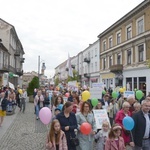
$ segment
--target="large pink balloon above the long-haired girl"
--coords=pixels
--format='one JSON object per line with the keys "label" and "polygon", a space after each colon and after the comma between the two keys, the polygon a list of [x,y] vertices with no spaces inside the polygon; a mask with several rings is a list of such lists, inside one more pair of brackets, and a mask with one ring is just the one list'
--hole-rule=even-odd
{"label": "large pink balloon above the long-haired girl", "polygon": [[52,118],[51,110],[48,107],[43,107],[39,112],[39,117],[43,124],[49,124]]}

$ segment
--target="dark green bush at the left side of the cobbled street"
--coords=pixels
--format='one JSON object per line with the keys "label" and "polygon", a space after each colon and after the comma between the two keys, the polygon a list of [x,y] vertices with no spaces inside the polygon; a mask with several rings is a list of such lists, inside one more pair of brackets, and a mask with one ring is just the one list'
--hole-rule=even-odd
{"label": "dark green bush at the left side of the cobbled street", "polygon": [[34,77],[32,79],[32,81],[29,83],[28,88],[27,88],[28,96],[33,95],[33,91],[35,88],[36,89],[39,88],[39,78],[38,77]]}

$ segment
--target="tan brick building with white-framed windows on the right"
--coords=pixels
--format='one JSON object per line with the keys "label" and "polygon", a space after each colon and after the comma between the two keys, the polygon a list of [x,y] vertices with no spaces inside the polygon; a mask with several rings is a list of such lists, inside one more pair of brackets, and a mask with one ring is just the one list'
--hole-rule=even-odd
{"label": "tan brick building with white-framed windows on the right", "polygon": [[106,88],[150,91],[150,0],[145,0],[112,26],[100,39],[100,78]]}

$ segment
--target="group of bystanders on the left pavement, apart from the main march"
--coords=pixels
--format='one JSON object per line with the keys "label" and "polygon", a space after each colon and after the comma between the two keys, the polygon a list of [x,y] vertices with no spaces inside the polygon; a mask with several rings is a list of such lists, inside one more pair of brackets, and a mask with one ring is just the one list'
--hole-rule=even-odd
{"label": "group of bystanders on the left pavement, apart from the main march", "polygon": [[26,98],[26,90],[19,86],[16,89],[7,86],[0,89],[0,127],[6,114],[12,115],[15,113],[16,106],[20,108],[20,112],[25,112]]}

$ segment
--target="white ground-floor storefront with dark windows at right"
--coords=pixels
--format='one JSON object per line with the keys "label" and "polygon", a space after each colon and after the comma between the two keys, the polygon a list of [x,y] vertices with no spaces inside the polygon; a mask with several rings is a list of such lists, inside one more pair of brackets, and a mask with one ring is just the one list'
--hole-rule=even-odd
{"label": "white ground-floor storefront with dark windows at right", "polygon": [[145,95],[150,92],[150,69],[136,69],[123,72],[123,85],[128,90],[142,90]]}

